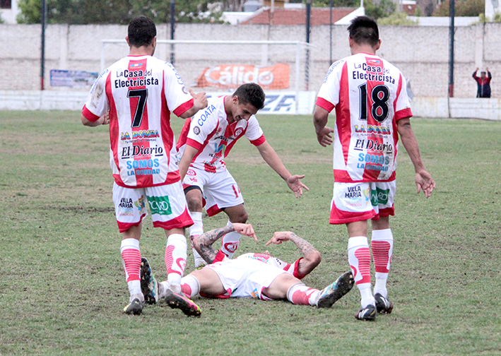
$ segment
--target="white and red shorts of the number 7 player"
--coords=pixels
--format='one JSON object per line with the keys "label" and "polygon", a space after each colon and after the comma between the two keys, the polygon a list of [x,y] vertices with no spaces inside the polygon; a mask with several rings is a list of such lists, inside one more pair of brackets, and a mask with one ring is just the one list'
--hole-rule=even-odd
{"label": "white and red shorts of the number 7 player", "polygon": [[193,225],[181,182],[148,188],[124,188],[114,183],[113,203],[120,232],[141,223],[148,215],[146,203],[154,227],[170,230]]}

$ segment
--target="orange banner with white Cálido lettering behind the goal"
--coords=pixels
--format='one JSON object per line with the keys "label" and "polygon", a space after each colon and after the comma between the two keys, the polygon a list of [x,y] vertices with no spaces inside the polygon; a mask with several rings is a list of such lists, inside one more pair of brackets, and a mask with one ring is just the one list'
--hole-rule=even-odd
{"label": "orange banner with white C\u00e1lido lettering behind the goal", "polygon": [[196,86],[219,89],[238,88],[244,83],[258,83],[263,89],[289,88],[289,65],[249,66],[243,64],[219,64],[204,69]]}

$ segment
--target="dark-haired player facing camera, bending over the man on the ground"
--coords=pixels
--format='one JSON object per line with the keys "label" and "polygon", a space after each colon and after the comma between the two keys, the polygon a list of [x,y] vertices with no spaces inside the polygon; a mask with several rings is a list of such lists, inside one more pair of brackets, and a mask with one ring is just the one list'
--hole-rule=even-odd
{"label": "dark-haired player facing camera, bending over the man on the ground", "polygon": [[[304,175],[293,175],[285,168],[275,150],[264,137],[255,114],[264,107],[263,89],[256,83],[240,85],[233,95],[211,97],[205,110],[184,123],[177,148],[179,174],[194,225],[190,237],[204,232],[202,208],[208,216],[220,211],[228,215],[228,223],[247,222],[247,210],[237,182],[226,169],[224,158],[237,140],[246,137],[259,150],[264,161],[287,183],[297,198]],[[240,242],[240,234],[232,232],[221,239],[221,251],[232,257]],[[195,267],[205,264],[193,249]]]}

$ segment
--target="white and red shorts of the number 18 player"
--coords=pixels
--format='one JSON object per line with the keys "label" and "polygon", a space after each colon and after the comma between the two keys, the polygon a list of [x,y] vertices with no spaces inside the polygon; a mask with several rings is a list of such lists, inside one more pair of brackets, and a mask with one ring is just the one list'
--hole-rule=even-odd
{"label": "white and red shorts of the number 18 player", "polygon": [[346,224],[395,215],[393,206],[395,190],[396,181],[334,182],[329,223]]}

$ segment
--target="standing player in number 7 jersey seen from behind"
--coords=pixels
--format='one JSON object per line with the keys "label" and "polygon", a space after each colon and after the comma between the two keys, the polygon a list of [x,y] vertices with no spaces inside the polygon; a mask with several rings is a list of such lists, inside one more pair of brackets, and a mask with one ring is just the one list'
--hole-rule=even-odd
{"label": "standing player in number 7 jersey seen from behind", "polygon": [[[170,63],[153,57],[157,43],[151,18],[129,23],[129,55],[103,71],[82,109],[86,126],[110,124],[110,165],[120,254],[129,287],[126,314],[141,314],[139,240],[149,206],[153,227],[165,230],[165,267],[172,295],[181,293],[187,259],[185,227],[193,225],[175,159],[170,113],[186,119],[207,106],[205,93],[186,90]],[[179,298],[184,300],[180,295]]]}

